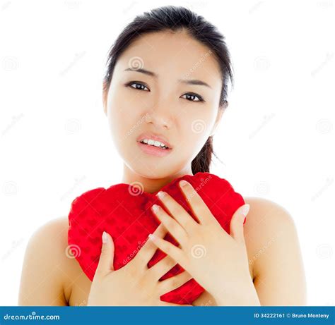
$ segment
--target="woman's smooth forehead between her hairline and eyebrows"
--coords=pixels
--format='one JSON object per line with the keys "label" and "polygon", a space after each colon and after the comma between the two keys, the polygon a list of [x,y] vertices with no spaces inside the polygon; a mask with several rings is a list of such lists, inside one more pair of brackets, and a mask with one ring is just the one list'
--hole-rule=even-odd
{"label": "woman's smooth forehead between her hairline and eyebrows", "polygon": [[141,35],[119,57],[115,70],[123,71],[133,61],[158,76],[202,78],[210,85],[221,80],[214,52],[185,31]]}

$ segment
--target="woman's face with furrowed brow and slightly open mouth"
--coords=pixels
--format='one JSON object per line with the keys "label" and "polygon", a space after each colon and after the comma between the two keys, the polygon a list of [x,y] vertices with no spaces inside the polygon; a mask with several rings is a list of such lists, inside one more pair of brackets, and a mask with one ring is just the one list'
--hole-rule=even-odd
{"label": "woman's face with furrowed brow and slightly open mouth", "polygon": [[[213,52],[186,32],[154,32],[133,42],[104,94],[112,137],[127,167],[146,178],[191,171],[222,116],[221,87]],[[151,135],[170,149],[140,144]]]}

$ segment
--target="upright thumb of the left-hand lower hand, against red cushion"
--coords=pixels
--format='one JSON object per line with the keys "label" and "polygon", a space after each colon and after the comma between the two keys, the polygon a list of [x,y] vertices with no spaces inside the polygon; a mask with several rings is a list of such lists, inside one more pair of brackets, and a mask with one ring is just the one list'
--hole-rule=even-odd
{"label": "upright thumb of the left-hand lower hand, against red cushion", "polygon": [[102,247],[98,267],[95,271],[100,276],[105,276],[114,271],[114,243],[112,236],[105,231],[102,233]]}

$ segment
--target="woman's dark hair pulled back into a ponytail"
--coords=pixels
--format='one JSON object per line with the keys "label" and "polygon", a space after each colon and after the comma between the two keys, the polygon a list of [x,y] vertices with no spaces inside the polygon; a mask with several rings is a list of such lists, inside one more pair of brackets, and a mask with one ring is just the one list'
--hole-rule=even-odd
{"label": "woman's dark hair pulled back into a ponytail", "polygon": [[[149,32],[160,32],[165,30],[187,30],[189,35],[204,44],[216,56],[221,69],[222,90],[219,102],[219,109],[228,106],[228,82],[233,86],[233,66],[230,61],[230,53],[225,44],[225,37],[217,28],[208,23],[204,17],[197,15],[188,8],[181,6],[163,6],[136,16],[110,48],[107,56],[107,72],[104,77],[103,91],[107,94],[112,80],[114,66],[119,56],[141,35]],[[204,147],[192,161],[192,173],[208,172],[211,165],[213,152],[213,136],[208,137]],[[216,156],[217,157],[217,156]]]}

